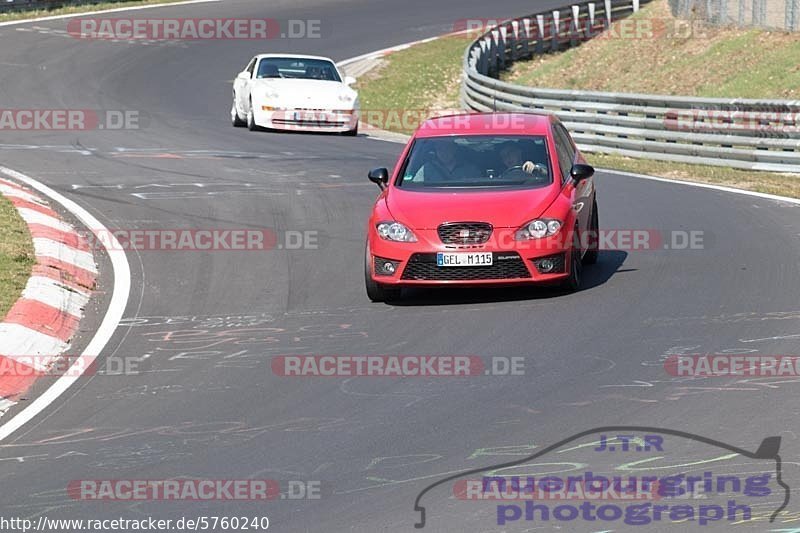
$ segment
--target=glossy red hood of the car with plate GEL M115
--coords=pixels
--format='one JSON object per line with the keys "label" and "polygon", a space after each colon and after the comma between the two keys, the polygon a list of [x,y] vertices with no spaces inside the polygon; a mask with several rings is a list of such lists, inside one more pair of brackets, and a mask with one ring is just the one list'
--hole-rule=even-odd
{"label": "glossy red hood of the car with plate GEL M115", "polygon": [[555,185],[491,192],[404,191],[392,187],[385,202],[392,217],[411,229],[436,229],[443,222],[489,222],[496,228],[518,228],[544,213],[559,193]]}

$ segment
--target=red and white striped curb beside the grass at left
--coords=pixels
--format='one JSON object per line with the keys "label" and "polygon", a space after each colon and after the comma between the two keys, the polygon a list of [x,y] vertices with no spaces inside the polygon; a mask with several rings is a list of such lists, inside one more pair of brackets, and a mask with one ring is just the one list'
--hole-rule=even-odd
{"label": "red and white striped curb beside the grass at left", "polygon": [[36,264],[22,296],[0,322],[0,416],[63,353],[97,277],[86,240],[38,194],[0,178],[33,238]]}

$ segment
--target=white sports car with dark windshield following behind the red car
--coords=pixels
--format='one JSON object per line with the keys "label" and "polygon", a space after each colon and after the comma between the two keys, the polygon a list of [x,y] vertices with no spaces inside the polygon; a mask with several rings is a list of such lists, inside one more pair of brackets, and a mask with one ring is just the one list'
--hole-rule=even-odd
{"label": "white sports car with dark windshield following behind the red car", "polygon": [[358,133],[358,93],[326,57],[261,54],[233,82],[231,121],[272,128]]}

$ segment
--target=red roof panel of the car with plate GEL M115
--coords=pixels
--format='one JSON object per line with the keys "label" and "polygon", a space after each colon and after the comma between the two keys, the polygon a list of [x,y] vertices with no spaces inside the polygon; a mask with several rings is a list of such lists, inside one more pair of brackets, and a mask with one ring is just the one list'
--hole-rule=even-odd
{"label": "red roof panel of the car with plate GEL M115", "polygon": [[415,137],[442,135],[547,135],[552,115],[534,113],[463,113],[430,118]]}

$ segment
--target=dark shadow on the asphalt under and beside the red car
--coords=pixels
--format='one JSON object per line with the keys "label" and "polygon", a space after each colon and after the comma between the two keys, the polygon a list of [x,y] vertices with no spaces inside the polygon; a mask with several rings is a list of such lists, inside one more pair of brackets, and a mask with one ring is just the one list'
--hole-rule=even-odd
{"label": "dark shadow on the asphalt under and beside the red car", "polygon": [[[620,270],[628,257],[627,252],[619,250],[601,251],[597,264],[586,265],[583,269],[583,283],[578,292],[599,287],[618,272],[633,272],[636,269]],[[544,300],[565,296],[559,287],[494,287],[494,288],[422,288],[404,289],[399,300],[387,305],[406,307],[417,305],[457,305],[491,302],[514,302],[521,300]]]}

